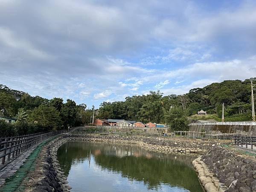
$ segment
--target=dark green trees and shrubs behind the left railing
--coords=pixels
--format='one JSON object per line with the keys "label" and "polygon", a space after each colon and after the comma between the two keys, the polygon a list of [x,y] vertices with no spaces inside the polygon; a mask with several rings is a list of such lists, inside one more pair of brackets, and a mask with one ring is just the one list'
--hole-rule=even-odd
{"label": "dark green trees and shrubs behind the left railing", "polygon": [[[0,116],[14,117],[15,124],[0,121],[0,135],[15,136],[52,131],[89,123],[93,111],[85,104],[76,105],[71,99],[44,99],[12,90],[0,84]],[[89,116],[89,118],[88,118]]]}

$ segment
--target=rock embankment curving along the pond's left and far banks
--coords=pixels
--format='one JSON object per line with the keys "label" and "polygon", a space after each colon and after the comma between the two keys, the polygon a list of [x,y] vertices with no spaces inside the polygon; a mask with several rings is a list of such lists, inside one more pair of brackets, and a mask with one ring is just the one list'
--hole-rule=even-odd
{"label": "rock embankment curving along the pond's left and far banks", "polygon": [[221,144],[215,141],[158,140],[149,137],[122,137],[115,135],[63,136],[52,141],[42,149],[35,171],[30,176],[32,178],[27,183],[28,189],[26,191],[69,192],[72,189],[68,185],[67,177],[62,172],[57,159],[58,148],[64,143],[72,141],[127,143],[167,153],[178,151],[181,153],[206,153],[212,146]]}

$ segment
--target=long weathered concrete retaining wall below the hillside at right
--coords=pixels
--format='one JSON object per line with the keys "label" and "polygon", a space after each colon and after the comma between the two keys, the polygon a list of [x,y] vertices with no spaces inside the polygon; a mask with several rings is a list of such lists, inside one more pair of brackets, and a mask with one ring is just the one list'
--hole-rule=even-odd
{"label": "long weathered concrete retaining wall below the hillside at right", "polygon": [[190,123],[189,131],[206,131],[207,134],[233,133],[256,137],[256,122]]}

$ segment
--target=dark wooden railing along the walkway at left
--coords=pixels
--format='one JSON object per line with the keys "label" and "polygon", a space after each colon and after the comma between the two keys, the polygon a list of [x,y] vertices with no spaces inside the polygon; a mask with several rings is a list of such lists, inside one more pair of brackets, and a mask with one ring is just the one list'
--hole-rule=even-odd
{"label": "dark wooden railing along the walkway at left", "polygon": [[18,137],[0,138],[0,159],[2,159],[1,164],[4,165],[6,163],[6,158],[7,161],[10,162],[31,148],[33,145],[40,143],[41,141],[44,141],[52,136],[65,133],[65,130],[59,130],[47,133],[23,135]]}

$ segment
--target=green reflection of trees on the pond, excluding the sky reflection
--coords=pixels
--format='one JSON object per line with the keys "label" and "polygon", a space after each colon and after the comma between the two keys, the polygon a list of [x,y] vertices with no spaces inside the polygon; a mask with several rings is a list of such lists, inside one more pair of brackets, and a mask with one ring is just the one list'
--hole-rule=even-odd
{"label": "green reflection of trees on the pond, excluding the sky reflection", "polygon": [[[94,166],[100,167],[99,172],[107,170],[120,174],[122,178],[142,183],[148,190],[159,190],[166,184],[170,189],[175,187],[174,191],[202,191],[192,168],[192,160],[196,157],[196,154],[165,154],[136,145],[97,142],[65,143],[58,150],[58,160],[68,179],[71,177],[69,174],[73,166],[85,163],[89,168],[93,163]],[[88,170],[79,172],[82,172],[82,175],[90,174]],[[90,179],[92,177],[95,176],[91,175]],[[70,185],[72,186],[72,183]]]}

